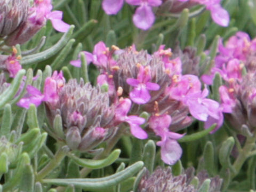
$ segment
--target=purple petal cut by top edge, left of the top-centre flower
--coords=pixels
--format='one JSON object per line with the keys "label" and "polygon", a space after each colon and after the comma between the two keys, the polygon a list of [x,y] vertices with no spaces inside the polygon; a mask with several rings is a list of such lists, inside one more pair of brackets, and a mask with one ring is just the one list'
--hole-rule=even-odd
{"label": "purple petal cut by top edge, left of the top-centre flower", "polygon": [[103,0],[102,7],[107,14],[116,14],[121,10],[124,0]]}

